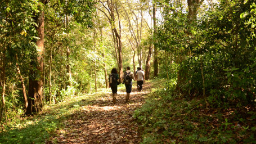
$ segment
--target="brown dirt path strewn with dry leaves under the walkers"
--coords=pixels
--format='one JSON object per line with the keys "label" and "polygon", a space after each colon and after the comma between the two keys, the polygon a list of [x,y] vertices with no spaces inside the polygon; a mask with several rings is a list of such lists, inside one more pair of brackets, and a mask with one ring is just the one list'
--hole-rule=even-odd
{"label": "brown dirt path strewn with dry leaves under the walkers", "polygon": [[55,140],[57,143],[139,143],[141,136],[138,125],[132,123],[132,115],[150,92],[150,82],[144,84],[141,92],[137,91],[137,83],[133,82],[131,101],[125,103],[125,89],[120,89],[117,102],[113,104],[112,94],[108,91],[65,120],[64,129],[58,132]]}

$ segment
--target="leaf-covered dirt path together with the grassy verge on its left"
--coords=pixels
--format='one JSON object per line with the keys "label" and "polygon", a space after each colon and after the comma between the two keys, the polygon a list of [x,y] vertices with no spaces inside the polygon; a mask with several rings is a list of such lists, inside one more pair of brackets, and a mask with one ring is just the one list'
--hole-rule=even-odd
{"label": "leaf-covered dirt path together with the grassy verge on its left", "polygon": [[[125,87],[120,84],[116,104],[111,89],[65,97],[58,104],[45,105],[43,112],[20,116],[0,130],[2,143],[140,143],[140,126],[134,110],[145,104],[157,80],[144,84],[141,92],[133,83],[131,101],[125,103]],[[155,87],[155,88],[154,88]]]}

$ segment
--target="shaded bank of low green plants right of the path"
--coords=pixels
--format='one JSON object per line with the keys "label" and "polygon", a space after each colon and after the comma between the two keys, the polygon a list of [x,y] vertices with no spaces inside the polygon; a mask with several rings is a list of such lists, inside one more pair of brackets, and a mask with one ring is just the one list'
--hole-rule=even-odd
{"label": "shaded bank of low green plants right of the path", "polygon": [[214,108],[200,97],[188,100],[174,91],[173,80],[161,81],[133,115],[142,143],[256,143],[255,111]]}

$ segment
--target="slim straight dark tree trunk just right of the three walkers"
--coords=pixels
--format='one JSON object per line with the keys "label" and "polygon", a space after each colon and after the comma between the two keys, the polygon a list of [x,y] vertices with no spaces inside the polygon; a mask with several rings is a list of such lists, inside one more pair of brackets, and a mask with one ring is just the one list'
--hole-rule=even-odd
{"label": "slim straight dark tree trunk just right of the three walkers", "polygon": [[[156,0],[153,3],[154,37],[156,36]],[[155,39],[155,38],[154,38]],[[158,48],[154,43],[154,77],[158,77]]]}

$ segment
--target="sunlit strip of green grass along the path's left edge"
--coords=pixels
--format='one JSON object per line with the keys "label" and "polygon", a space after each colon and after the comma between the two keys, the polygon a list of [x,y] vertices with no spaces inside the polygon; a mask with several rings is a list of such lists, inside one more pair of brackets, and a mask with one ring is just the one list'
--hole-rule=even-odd
{"label": "sunlit strip of green grass along the path's left edge", "polygon": [[91,104],[92,100],[104,97],[110,89],[100,89],[92,95],[67,97],[56,105],[44,106],[43,113],[20,118],[0,133],[0,143],[46,143],[50,137],[64,127],[63,122],[76,113],[80,107]]}

